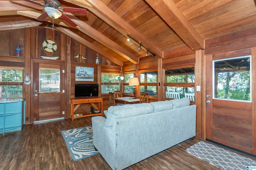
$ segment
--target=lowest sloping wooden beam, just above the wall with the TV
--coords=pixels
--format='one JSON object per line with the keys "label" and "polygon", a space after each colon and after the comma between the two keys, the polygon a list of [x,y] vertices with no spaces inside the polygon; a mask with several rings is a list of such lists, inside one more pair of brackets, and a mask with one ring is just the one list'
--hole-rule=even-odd
{"label": "lowest sloping wooden beam, just above the wall with the TV", "polygon": [[119,66],[123,66],[122,61],[119,61],[118,59],[116,59],[115,57],[112,57],[112,55],[109,55],[108,53],[106,53],[105,51],[103,51],[102,49],[100,49],[99,47],[93,45],[92,43],[90,43],[89,41],[86,41],[85,39],[83,39],[82,37],[80,37],[79,35],[77,35],[76,33],[72,32],[69,29],[63,28],[63,27],[55,27],[55,29],[57,29],[58,31],[72,37],[73,39],[75,39],[76,41],[80,42],[81,44],[83,44],[84,46],[92,49],[93,51],[95,51],[96,53],[102,55],[103,57],[105,57],[106,59],[110,60],[111,62],[119,65]]}

